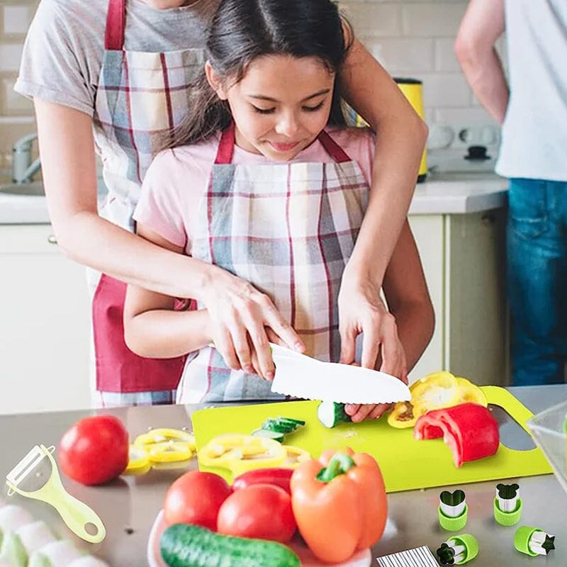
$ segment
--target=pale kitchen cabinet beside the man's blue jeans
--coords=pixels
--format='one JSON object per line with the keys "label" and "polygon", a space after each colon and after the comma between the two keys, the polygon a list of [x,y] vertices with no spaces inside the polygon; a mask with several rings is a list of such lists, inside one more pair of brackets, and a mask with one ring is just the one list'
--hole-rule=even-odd
{"label": "pale kitchen cabinet beside the man's blue jeans", "polygon": [[410,215],[435,310],[435,332],[410,381],[446,369],[507,385],[505,209]]}

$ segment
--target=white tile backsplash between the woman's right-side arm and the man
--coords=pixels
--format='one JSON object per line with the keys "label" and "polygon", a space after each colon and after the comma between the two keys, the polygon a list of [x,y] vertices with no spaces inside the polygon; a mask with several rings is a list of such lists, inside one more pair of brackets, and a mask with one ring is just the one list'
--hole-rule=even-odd
{"label": "white tile backsplash between the woman's right-side arm and the man", "polygon": [[[490,123],[461,72],[454,40],[468,0],[344,0],[354,33],[393,76],[422,79],[428,123]],[[505,54],[504,42],[498,52]]]}

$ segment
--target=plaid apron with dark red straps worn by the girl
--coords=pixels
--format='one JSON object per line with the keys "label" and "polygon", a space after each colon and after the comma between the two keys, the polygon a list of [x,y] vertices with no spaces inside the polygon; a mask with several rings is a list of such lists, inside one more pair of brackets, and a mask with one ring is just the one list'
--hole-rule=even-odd
{"label": "plaid apron with dark red straps worn by the girl", "polygon": [[[369,187],[330,135],[318,139],[334,162],[235,165],[234,125],[226,130],[196,215],[192,255],[266,293],[307,354],[337,362],[337,296]],[[205,347],[187,359],[177,402],[285,399],[270,386]]]}

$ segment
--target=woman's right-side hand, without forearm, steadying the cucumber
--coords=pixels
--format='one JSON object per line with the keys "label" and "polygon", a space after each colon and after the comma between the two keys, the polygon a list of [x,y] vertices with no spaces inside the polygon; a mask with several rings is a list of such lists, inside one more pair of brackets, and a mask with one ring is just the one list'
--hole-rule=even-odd
{"label": "woman's right-side hand, without forearm, steadying the cucumber", "polygon": [[356,339],[363,333],[361,366],[408,382],[408,365],[395,318],[381,300],[380,289],[370,281],[353,281],[343,276],[339,291],[339,333],[343,364],[354,362]]}

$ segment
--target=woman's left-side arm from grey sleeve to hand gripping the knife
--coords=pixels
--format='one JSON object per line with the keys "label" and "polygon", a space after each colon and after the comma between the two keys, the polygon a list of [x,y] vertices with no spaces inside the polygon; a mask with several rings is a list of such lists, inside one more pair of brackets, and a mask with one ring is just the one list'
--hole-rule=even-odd
{"label": "woman's left-side arm from grey sleeve to hand gripping the knife", "polygon": [[50,219],[69,257],[126,283],[201,301],[208,308],[215,346],[232,369],[249,367],[257,355],[259,374],[273,375],[265,327],[292,349],[303,350],[291,325],[249,282],[99,217],[90,116],[40,99],[34,103]]}

